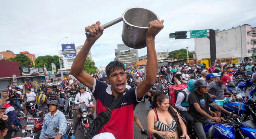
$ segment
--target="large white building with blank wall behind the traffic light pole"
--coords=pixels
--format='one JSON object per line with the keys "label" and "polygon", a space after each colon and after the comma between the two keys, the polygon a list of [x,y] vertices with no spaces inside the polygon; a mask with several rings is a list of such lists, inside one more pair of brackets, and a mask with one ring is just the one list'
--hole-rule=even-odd
{"label": "large white building with blank wall behind the traffic light pole", "polygon": [[[216,57],[249,58],[255,56],[256,27],[244,24],[228,30],[215,30]],[[198,60],[210,58],[210,44],[208,38],[195,38],[195,53]]]}

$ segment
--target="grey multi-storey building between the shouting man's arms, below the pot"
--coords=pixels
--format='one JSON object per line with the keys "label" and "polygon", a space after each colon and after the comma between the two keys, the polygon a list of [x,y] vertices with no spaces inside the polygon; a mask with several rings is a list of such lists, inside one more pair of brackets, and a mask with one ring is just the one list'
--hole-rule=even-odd
{"label": "grey multi-storey building between the shouting man's arms, below the pot", "polygon": [[130,47],[125,44],[117,44],[117,49],[115,49],[115,60],[126,65],[130,65],[132,62],[137,62],[139,61],[138,50],[130,49]]}

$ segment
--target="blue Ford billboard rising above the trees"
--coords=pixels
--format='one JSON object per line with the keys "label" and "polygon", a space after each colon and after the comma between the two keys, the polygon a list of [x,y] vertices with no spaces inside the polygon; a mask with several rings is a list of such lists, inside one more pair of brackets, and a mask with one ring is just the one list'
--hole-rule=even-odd
{"label": "blue Ford billboard rising above the trees", "polygon": [[74,58],[75,53],[75,44],[61,44],[62,54],[65,58]]}

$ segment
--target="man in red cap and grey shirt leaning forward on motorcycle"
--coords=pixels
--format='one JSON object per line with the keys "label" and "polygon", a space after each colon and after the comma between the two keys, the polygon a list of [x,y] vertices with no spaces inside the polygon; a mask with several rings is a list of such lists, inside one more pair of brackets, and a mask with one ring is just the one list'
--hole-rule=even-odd
{"label": "man in red cap and grey shirt leaning forward on motorcycle", "polygon": [[[218,80],[210,82],[208,86],[209,94],[215,96],[215,103],[217,103],[221,107],[223,106],[224,103],[226,103],[229,100],[229,98],[224,97],[224,92],[229,92],[226,87],[229,81],[230,77],[225,75]],[[234,99],[234,96],[231,96]],[[220,112],[216,112],[216,114],[218,115],[218,117],[221,116]]]}

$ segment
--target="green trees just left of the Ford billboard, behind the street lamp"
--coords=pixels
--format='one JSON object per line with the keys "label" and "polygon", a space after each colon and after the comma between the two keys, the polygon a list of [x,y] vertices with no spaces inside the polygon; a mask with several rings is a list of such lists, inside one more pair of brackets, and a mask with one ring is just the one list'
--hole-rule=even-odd
{"label": "green trees just left of the Ford billboard, behind the street lamp", "polygon": [[[36,67],[43,67],[45,65],[46,69],[52,71],[52,63],[56,65],[56,70],[60,69],[59,57],[58,56],[39,56],[35,60]],[[63,65],[63,61],[61,59],[61,63]]]}

